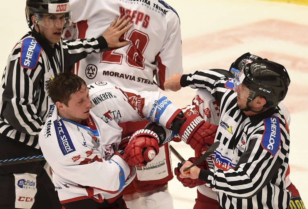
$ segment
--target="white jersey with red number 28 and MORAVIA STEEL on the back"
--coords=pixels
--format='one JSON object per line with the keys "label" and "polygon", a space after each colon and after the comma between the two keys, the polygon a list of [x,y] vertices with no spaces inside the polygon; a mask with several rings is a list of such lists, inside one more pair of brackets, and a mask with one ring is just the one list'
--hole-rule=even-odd
{"label": "white jersey with red number 28 and MORAVIA STEEL on the back", "polygon": [[171,74],[183,74],[180,19],[164,1],[71,0],[70,7],[76,24],[64,29],[67,40],[99,37],[116,16],[128,15],[133,23],[121,37],[130,45],[88,55],[75,65],[75,74],[86,83],[101,80],[155,91],[157,85],[164,90]]}

